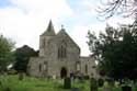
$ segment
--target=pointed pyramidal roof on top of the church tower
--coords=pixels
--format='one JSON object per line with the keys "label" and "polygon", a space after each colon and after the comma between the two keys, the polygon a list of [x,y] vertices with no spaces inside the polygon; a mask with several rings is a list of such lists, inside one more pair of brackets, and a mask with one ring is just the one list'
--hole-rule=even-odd
{"label": "pointed pyramidal roof on top of the church tower", "polygon": [[49,21],[47,30],[42,35],[46,35],[46,36],[54,36],[54,35],[56,35],[52,20]]}

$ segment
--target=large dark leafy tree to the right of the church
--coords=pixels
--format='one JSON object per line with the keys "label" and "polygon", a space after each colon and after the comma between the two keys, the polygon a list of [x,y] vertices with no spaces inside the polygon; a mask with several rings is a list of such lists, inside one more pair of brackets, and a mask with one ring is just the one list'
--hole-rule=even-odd
{"label": "large dark leafy tree to the right of the church", "polygon": [[88,33],[92,56],[99,61],[99,68],[114,79],[137,76],[137,27],[122,25],[119,29],[107,26],[99,37]]}

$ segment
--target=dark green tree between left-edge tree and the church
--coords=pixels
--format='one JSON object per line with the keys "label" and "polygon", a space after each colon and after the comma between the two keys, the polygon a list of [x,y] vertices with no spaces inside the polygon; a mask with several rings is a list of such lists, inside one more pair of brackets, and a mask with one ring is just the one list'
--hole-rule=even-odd
{"label": "dark green tree between left-edge tree and the church", "polygon": [[30,57],[37,56],[37,52],[28,47],[27,45],[24,45],[21,48],[16,48],[16,50],[14,52],[14,69],[19,72],[26,72]]}

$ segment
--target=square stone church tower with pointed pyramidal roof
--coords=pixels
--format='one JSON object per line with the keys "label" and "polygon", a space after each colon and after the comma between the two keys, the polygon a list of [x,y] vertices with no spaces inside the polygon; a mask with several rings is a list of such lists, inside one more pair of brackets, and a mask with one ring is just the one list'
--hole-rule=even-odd
{"label": "square stone church tower with pointed pyramidal roof", "polygon": [[52,37],[54,37],[55,30],[52,20],[47,26],[47,30],[39,36],[39,56],[45,57],[46,53],[48,53],[48,43]]}

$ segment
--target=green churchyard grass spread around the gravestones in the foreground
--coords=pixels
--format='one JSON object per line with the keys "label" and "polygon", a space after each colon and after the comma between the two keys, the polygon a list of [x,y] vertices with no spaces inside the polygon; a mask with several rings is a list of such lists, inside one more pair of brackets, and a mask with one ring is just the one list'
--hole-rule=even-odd
{"label": "green churchyard grass spread around the gravestones in the foreground", "polygon": [[[23,80],[19,80],[18,76],[0,76],[0,91],[70,91],[62,89],[62,80],[49,80],[44,78],[31,78],[25,77]],[[72,88],[79,88],[80,91],[90,91],[90,81],[72,81]],[[102,91],[102,88],[99,88]],[[112,91],[122,91],[119,87],[113,88]],[[133,91],[135,89],[133,88]]]}

